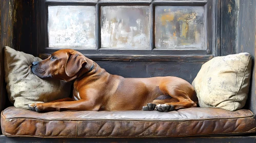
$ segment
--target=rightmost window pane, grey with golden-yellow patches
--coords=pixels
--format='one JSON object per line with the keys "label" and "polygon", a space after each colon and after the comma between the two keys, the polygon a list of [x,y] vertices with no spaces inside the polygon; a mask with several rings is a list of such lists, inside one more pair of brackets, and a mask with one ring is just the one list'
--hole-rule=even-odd
{"label": "rightmost window pane, grey with golden-yellow patches", "polygon": [[205,49],[204,39],[204,7],[155,7],[156,48]]}

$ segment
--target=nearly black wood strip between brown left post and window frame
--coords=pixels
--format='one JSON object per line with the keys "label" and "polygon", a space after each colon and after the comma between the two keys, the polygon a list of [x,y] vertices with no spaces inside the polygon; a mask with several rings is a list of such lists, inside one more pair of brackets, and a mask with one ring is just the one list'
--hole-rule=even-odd
{"label": "nearly black wood strip between brown left post and window frame", "polygon": [[36,27],[36,0],[15,1],[14,18],[16,25],[14,39],[16,39],[17,50],[36,56],[37,34],[33,31]]}

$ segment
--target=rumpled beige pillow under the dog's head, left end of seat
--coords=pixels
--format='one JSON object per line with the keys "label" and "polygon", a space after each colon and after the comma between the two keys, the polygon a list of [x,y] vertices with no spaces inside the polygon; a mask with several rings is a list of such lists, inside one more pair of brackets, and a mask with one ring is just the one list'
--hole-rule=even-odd
{"label": "rumpled beige pillow under the dog's head, left end of seat", "polygon": [[15,51],[8,46],[5,46],[4,56],[8,98],[16,108],[28,109],[27,105],[30,103],[50,102],[69,97],[70,83],[41,79],[32,73],[31,63],[41,61],[40,58]]}

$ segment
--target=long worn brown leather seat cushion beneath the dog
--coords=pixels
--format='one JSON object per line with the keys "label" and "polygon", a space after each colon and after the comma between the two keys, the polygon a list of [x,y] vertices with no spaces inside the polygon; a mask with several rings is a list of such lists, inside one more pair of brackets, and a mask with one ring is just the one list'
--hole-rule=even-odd
{"label": "long worn brown leather seat cushion beneath the dog", "polygon": [[7,136],[170,137],[255,132],[250,110],[188,108],[158,111],[64,111],[37,113],[8,107],[1,114]]}

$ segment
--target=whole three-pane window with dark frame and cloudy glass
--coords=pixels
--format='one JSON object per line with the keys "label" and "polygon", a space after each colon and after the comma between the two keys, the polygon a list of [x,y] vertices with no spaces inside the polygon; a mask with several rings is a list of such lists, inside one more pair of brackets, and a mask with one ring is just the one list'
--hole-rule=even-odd
{"label": "whole three-pane window with dark frame and cloudy glass", "polygon": [[214,0],[41,1],[38,51],[50,54],[72,48],[94,58],[193,56],[207,60],[219,53],[216,32],[219,10],[215,3]]}

